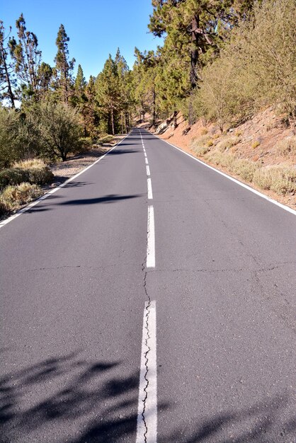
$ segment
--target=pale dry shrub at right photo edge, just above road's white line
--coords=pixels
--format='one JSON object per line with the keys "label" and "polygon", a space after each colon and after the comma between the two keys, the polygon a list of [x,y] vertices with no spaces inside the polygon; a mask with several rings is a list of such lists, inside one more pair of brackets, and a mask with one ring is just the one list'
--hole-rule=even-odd
{"label": "pale dry shrub at right photo edge, just above road's white line", "polygon": [[262,189],[280,194],[296,192],[296,170],[288,166],[266,166],[254,174],[254,183]]}

